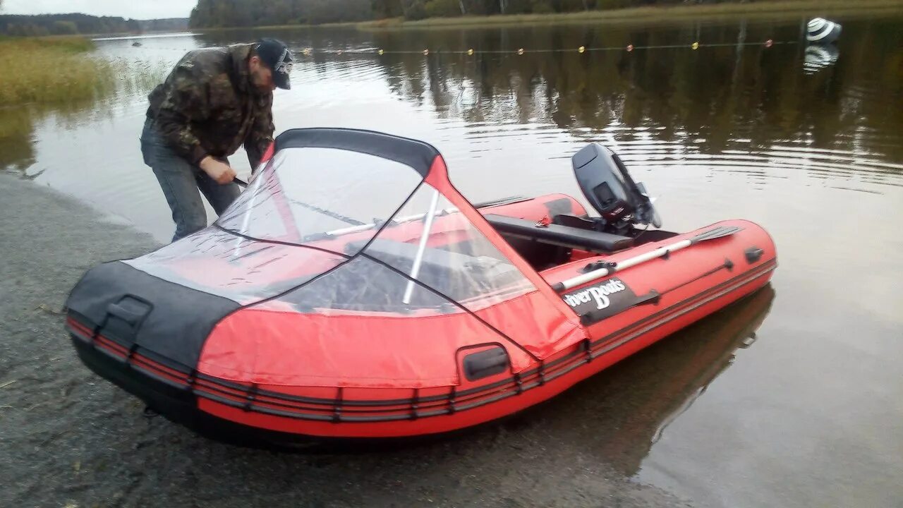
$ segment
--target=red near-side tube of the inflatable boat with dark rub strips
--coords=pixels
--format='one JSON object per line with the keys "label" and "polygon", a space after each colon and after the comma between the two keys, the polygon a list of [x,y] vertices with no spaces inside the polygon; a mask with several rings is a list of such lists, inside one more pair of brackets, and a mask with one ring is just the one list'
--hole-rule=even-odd
{"label": "red near-side tube of the inflatable boat with dark rub strips", "polygon": [[[524,211],[523,206],[520,209]],[[541,213],[541,210],[534,212]],[[530,218],[529,213],[519,215]],[[195,403],[191,411],[200,414],[190,416],[191,411],[181,405],[182,415],[174,415],[161,408],[167,403],[161,402],[158,396],[144,399],[154,400],[153,406],[182,423],[206,422],[200,428],[195,426],[200,431],[215,427],[209,425],[211,418],[221,419],[252,434],[287,443],[295,437],[303,441],[308,437],[416,437],[470,428],[551,399],[575,383],[765,286],[777,267],[775,247],[768,234],[749,221],[719,222],[604,259],[625,259],[721,225],[739,226],[741,230],[725,239],[677,251],[668,259],[656,259],[617,273],[635,293],[656,291],[660,294],[656,302],[634,306],[587,326],[588,340],[562,344],[558,351],[517,374],[499,372],[479,381],[467,381],[461,376],[460,382],[451,387],[421,389],[289,387],[219,379],[202,370],[178,372],[168,368],[165,362],[140,354],[133,354],[129,362],[132,371],[165,381],[170,388],[191,392],[190,400]],[[745,252],[750,248],[760,250],[757,259],[747,259]],[[542,275],[550,283],[570,278],[595,259],[579,253],[574,257],[577,260],[573,263]],[[725,264],[726,259],[730,263]],[[99,349],[120,361],[128,356],[124,348],[117,348],[102,336],[92,338],[90,330],[72,320],[70,330],[76,342],[93,344],[91,350],[81,348],[84,354]],[[471,349],[479,352],[490,347],[487,344]]]}

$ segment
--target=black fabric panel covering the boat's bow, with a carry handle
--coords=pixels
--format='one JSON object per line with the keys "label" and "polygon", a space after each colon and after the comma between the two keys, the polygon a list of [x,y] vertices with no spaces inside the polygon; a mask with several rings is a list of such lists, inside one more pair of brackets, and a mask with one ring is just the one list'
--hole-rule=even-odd
{"label": "black fabric panel covering the boat's bow, with a carry handle", "polygon": [[[66,301],[70,315],[100,334],[194,368],[213,326],[238,304],[112,261],[91,268]],[[252,333],[252,331],[248,331]]]}

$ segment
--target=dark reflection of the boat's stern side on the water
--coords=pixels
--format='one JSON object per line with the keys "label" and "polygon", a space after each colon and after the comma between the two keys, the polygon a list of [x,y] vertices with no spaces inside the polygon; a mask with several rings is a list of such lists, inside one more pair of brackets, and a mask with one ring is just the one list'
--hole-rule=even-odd
{"label": "dark reflection of the boat's stern side on the water", "polygon": [[544,427],[619,473],[637,475],[668,425],[755,343],[775,294],[763,287],[578,385],[544,409],[555,415]]}

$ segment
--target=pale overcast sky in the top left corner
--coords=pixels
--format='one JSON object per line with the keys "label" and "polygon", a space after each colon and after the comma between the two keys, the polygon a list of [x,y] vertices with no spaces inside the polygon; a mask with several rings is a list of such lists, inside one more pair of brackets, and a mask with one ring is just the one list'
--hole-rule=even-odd
{"label": "pale overcast sky in the top left corner", "polygon": [[197,0],[3,0],[0,14],[68,14],[132,19],[187,18]]}

